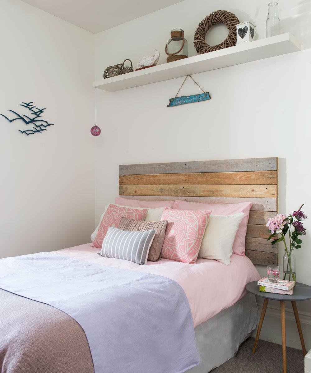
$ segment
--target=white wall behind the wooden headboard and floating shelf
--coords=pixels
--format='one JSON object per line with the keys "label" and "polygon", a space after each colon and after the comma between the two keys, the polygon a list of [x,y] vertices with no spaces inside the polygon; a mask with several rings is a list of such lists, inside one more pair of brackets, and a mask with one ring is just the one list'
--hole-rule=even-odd
{"label": "white wall behind the wooden headboard and floating shelf", "polygon": [[[102,78],[107,66],[125,58],[136,65],[155,47],[161,51],[159,63],[164,63],[164,47],[173,28],[184,29],[189,56],[194,55],[192,41],[198,23],[218,9],[235,13],[240,22],[252,21],[258,38],[265,37],[267,1],[232,4],[228,0],[185,0],[96,34],[95,79]],[[284,0],[279,9],[282,31],[292,32],[304,50],[196,74],[196,81],[211,94],[209,101],[167,108],[183,78],[114,93],[97,90],[98,125],[103,135],[96,142],[96,220],[118,195],[119,164],[277,156],[279,212],[291,213],[305,203],[304,211],[310,216],[305,223],[308,235],[295,254],[298,282],[311,285],[311,2]],[[195,93],[198,88],[187,79],[179,95]],[[281,266],[283,254],[279,245]],[[265,268],[257,267],[264,275]],[[280,343],[280,320],[275,318],[279,304],[270,305],[261,338]],[[298,304],[308,349],[310,305],[310,301]],[[301,348],[290,307],[287,317],[287,345]]]}

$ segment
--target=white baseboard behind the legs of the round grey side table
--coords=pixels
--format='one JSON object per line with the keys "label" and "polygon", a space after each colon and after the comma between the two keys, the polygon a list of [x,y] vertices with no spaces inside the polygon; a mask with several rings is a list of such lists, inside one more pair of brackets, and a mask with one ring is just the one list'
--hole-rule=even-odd
{"label": "white baseboard behind the legs of the round grey side table", "polygon": [[[262,310],[262,298],[257,298],[258,302],[258,321]],[[302,350],[301,342],[297,330],[295,315],[292,308],[286,307],[286,345],[288,347]],[[299,320],[301,323],[302,334],[307,351],[311,348],[311,312],[299,311]],[[252,336],[256,335],[256,330],[252,332]],[[282,344],[281,332],[281,309],[280,306],[268,304],[265,313],[264,322],[262,325],[260,339],[277,344]]]}

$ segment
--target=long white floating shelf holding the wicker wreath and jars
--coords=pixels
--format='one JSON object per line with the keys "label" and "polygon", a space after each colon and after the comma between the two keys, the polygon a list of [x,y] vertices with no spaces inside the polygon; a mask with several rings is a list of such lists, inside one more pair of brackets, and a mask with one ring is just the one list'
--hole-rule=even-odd
{"label": "long white floating shelf holding the wicker wreath and jars", "polygon": [[164,63],[152,68],[130,72],[93,82],[93,87],[114,92],[188,74],[239,65],[264,58],[280,56],[301,50],[301,43],[289,32],[266,39],[245,42],[234,47],[199,54],[183,60]]}

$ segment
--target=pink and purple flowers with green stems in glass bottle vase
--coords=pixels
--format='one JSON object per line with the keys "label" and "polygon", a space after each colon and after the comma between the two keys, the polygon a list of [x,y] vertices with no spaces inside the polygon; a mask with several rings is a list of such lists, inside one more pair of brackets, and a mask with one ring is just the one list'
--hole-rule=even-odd
{"label": "pink and purple flowers with green stems in glass bottle vase", "polygon": [[[304,228],[302,221],[307,219],[307,215],[301,211],[303,204],[298,211],[294,211],[291,215],[286,216],[284,214],[277,214],[274,217],[270,217],[267,223],[267,227],[271,233],[268,241],[277,233],[281,234],[280,238],[271,241],[274,245],[277,242],[284,242],[285,254],[283,257],[283,273],[284,278],[289,275],[289,280],[296,282],[296,269],[295,269],[295,256],[293,255],[293,249],[301,248],[302,240],[299,236],[305,236],[306,229]],[[285,242],[285,235],[289,232],[289,248],[287,248]]]}

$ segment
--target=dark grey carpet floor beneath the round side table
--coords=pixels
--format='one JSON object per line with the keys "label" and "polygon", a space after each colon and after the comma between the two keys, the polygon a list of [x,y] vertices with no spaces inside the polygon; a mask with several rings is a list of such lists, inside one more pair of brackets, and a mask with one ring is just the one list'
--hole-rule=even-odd
{"label": "dark grey carpet floor beneath the round side table", "polygon": [[[283,373],[282,346],[259,339],[256,352],[252,349],[255,338],[248,338],[237,351],[236,356],[212,373]],[[287,373],[304,373],[304,354],[302,350],[286,348]]]}

